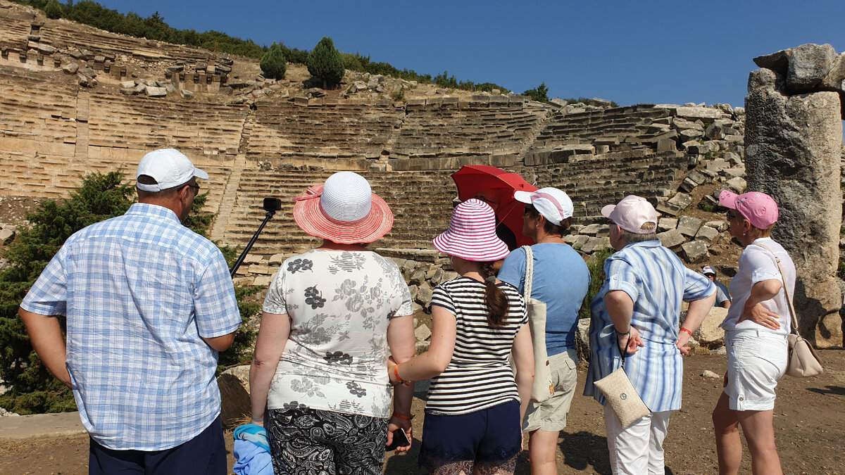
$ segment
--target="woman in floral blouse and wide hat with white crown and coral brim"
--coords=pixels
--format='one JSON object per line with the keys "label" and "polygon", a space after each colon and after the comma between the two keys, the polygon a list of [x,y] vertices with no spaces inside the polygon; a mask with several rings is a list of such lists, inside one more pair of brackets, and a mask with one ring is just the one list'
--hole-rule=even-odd
{"label": "woman in floral blouse and wide hat with white crown and coral brim", "polygon": [[413,356],[411,293],[393,261],[364,247],[393,215],[352,172],[294,201],[297,225],[324,241],[286,259],[267,291],[252,422],[267,429],[276,473],[380,475],[392,431],[412,435],[412,388],[396,387],[391,415],[385,371],[389,353]]}

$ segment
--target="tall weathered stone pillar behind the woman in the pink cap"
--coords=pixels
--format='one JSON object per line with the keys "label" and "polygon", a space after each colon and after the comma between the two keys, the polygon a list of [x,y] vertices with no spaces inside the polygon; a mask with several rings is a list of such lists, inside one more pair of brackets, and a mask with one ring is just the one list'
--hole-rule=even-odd
{"label": "tall weathered stone pillar behind the woman in the pink cap", "polygon": [[[798,273],[794,303],[800,333],[817,347],[831,347],[842,345],[836,277],[842,104],[836,91],[814,86],[807,91],[812,81],[795,78],[795,71],[806,71],[799,64],[802,55],[794,52],[801,47],[755,58],[766,67],[750,74],[745,96],[745,179],[748,189],[777,201],[780,216],[772,237],[788,250]],[[772,60],[779,53],[784,54]]]}

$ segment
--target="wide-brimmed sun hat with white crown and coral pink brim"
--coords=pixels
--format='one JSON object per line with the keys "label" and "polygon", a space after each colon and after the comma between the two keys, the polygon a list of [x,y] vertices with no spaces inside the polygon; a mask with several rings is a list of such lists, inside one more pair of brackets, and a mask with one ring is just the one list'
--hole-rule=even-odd
{"label": "wide-brimmed sun hat with white crown and coral pink brim", "polygon": [[367,178],[337,172],[293,199],[293,219],[311,236],[334,243],[372,243],[393,227],[393,213]]}

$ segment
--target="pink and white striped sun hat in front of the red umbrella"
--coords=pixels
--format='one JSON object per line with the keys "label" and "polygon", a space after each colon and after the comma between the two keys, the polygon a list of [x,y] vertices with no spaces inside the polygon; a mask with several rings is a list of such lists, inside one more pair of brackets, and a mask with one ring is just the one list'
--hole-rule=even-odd
{"label": "pink and white striped sun hat in front of the red umbrella", "polygon": [[481,199],[467,199],[452,210],[449,229],[434,238],[434,248],[443,254],[476,262],[504,259],[510,251],[496,236],[496,215]]}

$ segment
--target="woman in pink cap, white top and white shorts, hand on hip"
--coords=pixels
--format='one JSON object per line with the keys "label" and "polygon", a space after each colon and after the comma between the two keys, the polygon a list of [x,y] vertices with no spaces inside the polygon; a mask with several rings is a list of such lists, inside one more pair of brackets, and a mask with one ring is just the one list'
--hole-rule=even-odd
{"label": "woman in pink cap, white top and white shorts, hand on hip", "polygon": [[[745,246],[739,271],[728,286],[733,303],[722,322],[728,349],[725,389],[713,410],[720,473],[736,473],[742,460],[739,426],[754,473],[782,473],[772,414],[775,386],[787,368],[790,314],[783,292],[793,294],[795,265],[770,238],[777,203],[760,192],[722,191],[731,236]],[[773,254],[772,254],[773,253]],[[784,275],[777,269],[780,259]],[[784,288],[784,282],[786,287]]]}

